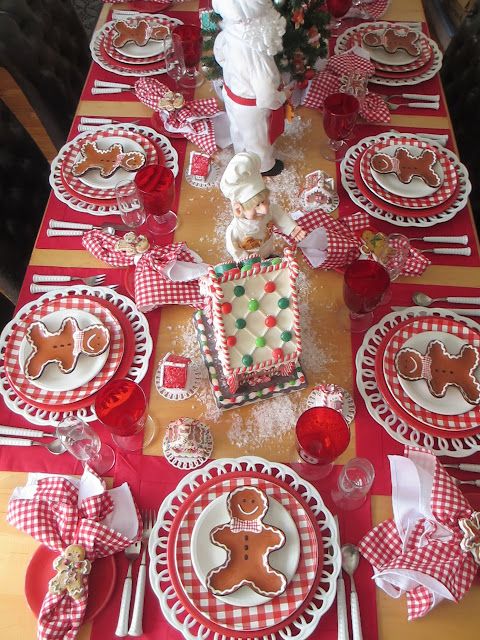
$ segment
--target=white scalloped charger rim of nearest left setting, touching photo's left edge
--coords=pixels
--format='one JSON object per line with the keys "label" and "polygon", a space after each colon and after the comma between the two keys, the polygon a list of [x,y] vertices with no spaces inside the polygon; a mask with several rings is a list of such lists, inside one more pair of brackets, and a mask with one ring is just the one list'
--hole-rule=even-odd
{"label": "white scalloped charger rim of nearest left setting, touching photo's left edge", "polygon": [[150,336],[148,327],[148,321],[146,317],[138,311],[135,303],[125,296],[120,295],[113,289],[108,287],[87,287],[86,285],[76,285],[72,287],[62,287],[55,291],[49,291],[40,296],[36,300],[24,305],[11,320],[0,336],[0,395],[7,407],[14,413],[21,415],[28,422],[32,424],[42,425],[44,427],[56,426],[67,415],[77,415],[85,422],[91,422],[96,420],[93,400],[92,404],[87,407],[82,407],[75,412],[52,410],[46,411],[45,409],[39,409],[33,407],[28,402],[22,400],[12,389],[8,378],[4,371],[3,356],[5,353],[5,345],[8,341],[8,337],[13,327],[19,322],[23,321],[34,309],[41,306],[46,300],[54,300],[57,297],[65,297],[68,295],[83,295],[83,296],[95,296],[100,300],[107,300],[114,304],[119,311],[126,315],[128,320],[132,324],[133,331],[135,333],[135,353],[132,360],[132,365],[128,370],[128,377],[135,382],[141,382],[145,377],[148,370],[149,359],[152,354],[153,341]]}

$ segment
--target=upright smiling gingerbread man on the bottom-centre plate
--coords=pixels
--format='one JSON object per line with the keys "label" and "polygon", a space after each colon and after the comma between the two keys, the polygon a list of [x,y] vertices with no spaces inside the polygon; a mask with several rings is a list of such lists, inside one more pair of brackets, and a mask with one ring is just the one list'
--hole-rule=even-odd
{"label": "upright smiling gingerbread man on the bottom-centre plate", "polygon": [[285,544],[280,529],[262,522],[268,510],[267,496],[255,487],[239,487],[227,498],[230,522],[210,532],[213,544],[227,552],[220,567],[207,574],[207,589],[224,596],[246,585],[262,596],[283,593],[287,580],[273,569],[268,556]]}

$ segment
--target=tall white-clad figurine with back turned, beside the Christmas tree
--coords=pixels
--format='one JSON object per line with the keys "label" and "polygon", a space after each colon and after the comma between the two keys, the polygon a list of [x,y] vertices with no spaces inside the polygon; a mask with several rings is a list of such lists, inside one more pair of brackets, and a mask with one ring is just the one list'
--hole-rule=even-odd
{"label": "tall white-clad figurine with back turned, beside the Christmas tree", "polygon": [[223,68],[223,99],[235,153],[253,152],[264,176],[276,176],[283,162],[272,144],[283,133],[286,95],[274,55],[282,50],[285,18],[272,0],[213,0],[222,16],[213,53]]}

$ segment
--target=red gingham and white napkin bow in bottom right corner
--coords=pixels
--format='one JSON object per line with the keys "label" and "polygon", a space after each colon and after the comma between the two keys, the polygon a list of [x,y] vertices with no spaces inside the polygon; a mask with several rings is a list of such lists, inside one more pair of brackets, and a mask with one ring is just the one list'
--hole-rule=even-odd
{"label": "red gingham and white napkin bow in bottom right corner", "polygon": [[406,593],[414,620],[445,598],[458,602],[470,589],[478,566],[462,549],[460,523],[473,509],[428,451],[407,449],[405,457],[389,458],[395,519],[370,531],[359,548],[377,586],[395,598]]}

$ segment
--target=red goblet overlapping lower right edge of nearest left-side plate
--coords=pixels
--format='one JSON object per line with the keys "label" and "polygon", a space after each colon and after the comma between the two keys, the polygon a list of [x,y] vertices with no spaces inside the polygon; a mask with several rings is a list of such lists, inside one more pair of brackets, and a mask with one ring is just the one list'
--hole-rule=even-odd
{"label": "red goblet overlapping lower right edge of nearest left-side plate", "polygon": [[[95,413],[115,444],[126,451],[140,450],[155,434],[145,393],[129,378],[111,380],[100,389],[95,397]],[[142,439],[135,437],[141,432],[144,432]]]}

